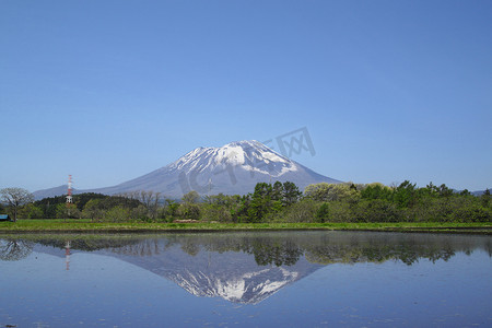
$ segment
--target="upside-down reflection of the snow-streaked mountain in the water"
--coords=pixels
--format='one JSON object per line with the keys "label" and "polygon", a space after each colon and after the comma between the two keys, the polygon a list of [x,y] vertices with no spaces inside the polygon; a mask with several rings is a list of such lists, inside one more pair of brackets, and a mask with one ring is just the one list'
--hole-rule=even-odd
{"label": "upside-down reflection of the snow-streaked mountain in the water", "polygon": [[159,259],[154,257],[151,267],[144,260],[134,259],[131,262],[145,266],[194,295],[221,296],[238,303],[258,303],[320,267],[311,265],[305,259],[291,267],[259,267],[251,256],[244,253],[200,251],[191,257],[177,247]]}

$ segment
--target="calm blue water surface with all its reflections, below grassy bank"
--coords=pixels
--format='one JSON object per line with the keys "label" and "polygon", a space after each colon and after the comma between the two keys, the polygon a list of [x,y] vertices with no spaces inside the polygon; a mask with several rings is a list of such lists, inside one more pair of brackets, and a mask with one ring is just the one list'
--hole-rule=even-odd
{"label": "calm blue water surface with all its reflections, below grassy bank", "polygon": [[492,326],[492,237],[0,236],[0,327]]}

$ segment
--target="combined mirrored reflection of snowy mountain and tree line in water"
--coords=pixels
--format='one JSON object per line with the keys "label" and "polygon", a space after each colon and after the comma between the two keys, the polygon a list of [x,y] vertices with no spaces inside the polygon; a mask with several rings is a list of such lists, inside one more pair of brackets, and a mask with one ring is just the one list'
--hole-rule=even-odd
{"label": "combined mirrored reflection of snowy mountain and tree line in water", "polygon": [[[209,233],[90,238],[31,235],[15,242],[16,245],[36,242],[34,250],[62,256],[65,251],[60,249],[63,249],[68,238],[72,241],[72,250],[116,257],[172,280],[194,295],[220,296],[230,302],[251,304],[329,263],[400,260],[410,266],[422,258],[448,260],[457,251],[470,254],[475,249],[483,249],[492,256],[490,236],[367,232]],[[8,245],[13,239],[3,238],[0,244]],[[33,249],[31,246],[27,248],[28,251]],[[26,256],[27,248],[19,248],[23,251],[22,257]],[[8,259],[17,259],[12,248],[9,251]],[[0,256],[0,259],[3,258]]]}

